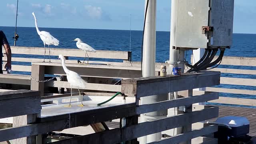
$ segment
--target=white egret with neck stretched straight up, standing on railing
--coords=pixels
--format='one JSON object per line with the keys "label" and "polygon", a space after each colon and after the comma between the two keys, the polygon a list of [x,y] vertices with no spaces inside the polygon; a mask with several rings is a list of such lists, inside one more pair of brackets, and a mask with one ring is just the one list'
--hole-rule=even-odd
{"label": "white egret with neck stretched straight up, standing on railing", "polygon": [[56,38],[54,38],[49,32],[40,31],[37,26],[37,20],[36,20],[35,13],[32,12],[32,15],[34,16],[34,19],[35,19],[36,31],[37,31],[38,35],[40,36],[41,40],[44,42],[44,59],[45,59],[45,53],[46,53],[45,45],[47,44],[48,48],[49,48],[49,56],[50,56],[50,62],[51,62],[50,45],[58,46],[60,41],[58,41]]}

